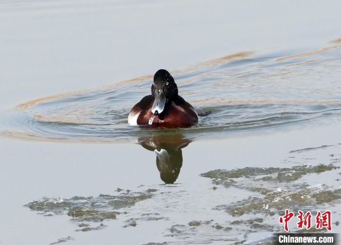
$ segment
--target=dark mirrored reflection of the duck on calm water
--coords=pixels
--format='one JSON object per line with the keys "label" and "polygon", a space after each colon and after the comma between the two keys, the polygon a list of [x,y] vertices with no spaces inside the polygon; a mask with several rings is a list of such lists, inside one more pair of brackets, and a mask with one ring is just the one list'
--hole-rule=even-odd
{"label": "dark mirrored reflection of the duck on calm water", "polygon": [[178,178],[183,161],[181,149],[189,142],[181,134],[157,134],[139,141],[145,149],[155,152],[156,167],[166,184],[173,184]]}

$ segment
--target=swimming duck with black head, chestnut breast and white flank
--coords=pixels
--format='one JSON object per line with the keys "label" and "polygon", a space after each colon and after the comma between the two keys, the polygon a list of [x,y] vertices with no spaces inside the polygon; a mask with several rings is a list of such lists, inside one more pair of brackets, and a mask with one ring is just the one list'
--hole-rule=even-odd
{"label": "swimming duck with black head, chestnut breast and white flank", "polygon": [[151,92],[133,106],[128,115],[130,125],[189,128],[198,123],[198,113],[178,94],[174,78],[167,70],[155,73]]}

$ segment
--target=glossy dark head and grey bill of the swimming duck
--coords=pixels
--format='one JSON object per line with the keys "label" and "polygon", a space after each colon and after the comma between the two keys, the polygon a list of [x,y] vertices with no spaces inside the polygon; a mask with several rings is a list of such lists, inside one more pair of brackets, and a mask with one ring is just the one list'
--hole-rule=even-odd
{"label": "glossy dark head and grey bill of the swimming duck", "polygon": [[152,84],[152,96],[154,98],[152,105],[152,113],[154,115],[162,113],[166,103],[177,98],[178,87],[168,71],[160,69],[155,73]]}

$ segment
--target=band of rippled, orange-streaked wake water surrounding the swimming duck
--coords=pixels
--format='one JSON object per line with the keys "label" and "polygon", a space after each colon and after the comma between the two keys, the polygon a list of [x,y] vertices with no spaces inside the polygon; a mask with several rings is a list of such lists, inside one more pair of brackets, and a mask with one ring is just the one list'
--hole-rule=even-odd
{"label": "band of rippled, orange-streaked wake water surrounding the swimming duck", "polygon": [[[174,131],[185,139],[304,126],[341,113],[341,44],[311,50],[241,52],[173,71],[179,94],[199,124]],[[160,132],[128,125],[133,105],[150,93],[152,75],[89,91],[59,94],[4,113],[3,137],[36,140],[134,141]]]}

